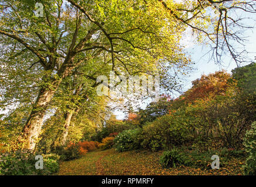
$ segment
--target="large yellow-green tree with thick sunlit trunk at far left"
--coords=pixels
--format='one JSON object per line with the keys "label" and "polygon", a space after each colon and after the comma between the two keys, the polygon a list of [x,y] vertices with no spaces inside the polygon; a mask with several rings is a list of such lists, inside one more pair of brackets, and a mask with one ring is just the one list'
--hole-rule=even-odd
{"label": "large yellow-green tree with thick sunlit trunk at far left", "polygon": [[[24,54],[26,64],[31,61],[28,68],[35,65],[43,68],[39,94],[22,130],[26,140],[24,148],[35,147],[34,140],[41,131],[52,96],[79,64],[105,51],[112,58],[112,70],[120,75],[122,70],[134,74],[155,69],[155,62],[167,54],[169,57],[172,54],[172,61],[181,57],[179,46],[174,46],[178,39],[167,34],[170,30],[178,33],[182,28],[159,22],[156,15],[160,11],[154,12],[153,5],[142,6],[142,2],[114,4],[114,1],[112,6],[103,5],[103,1],[100,5],[82,1],[82,6],[74,1],[70,1],[72,5],[63,1],[41,2],[43,18],[36,18],[32,12],[34,1],[13,0],[1,4],[0,34],[1,44],[6,45],[3,49],[7,51],[6,66],[10,63],[8,53],[12,53],[18,57]],[[163,27],[170,30],[160,32]]]}

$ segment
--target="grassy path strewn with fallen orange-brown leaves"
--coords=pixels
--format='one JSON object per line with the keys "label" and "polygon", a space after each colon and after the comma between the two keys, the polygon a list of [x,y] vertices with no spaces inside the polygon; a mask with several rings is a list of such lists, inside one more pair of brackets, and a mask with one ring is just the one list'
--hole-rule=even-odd
{"label": "grassy path strewn with fallen orange-brown leaves", "polygon": [[[227,168],[199,169],[177,167],[163,169],[159,164],[162,151],[127,151],[117,153],[113,149],[92,151],[78,160],[60,164],[58,175],[242,175],[241,164],[230,161]],[[239,161],[240,162],[240,161]]]}

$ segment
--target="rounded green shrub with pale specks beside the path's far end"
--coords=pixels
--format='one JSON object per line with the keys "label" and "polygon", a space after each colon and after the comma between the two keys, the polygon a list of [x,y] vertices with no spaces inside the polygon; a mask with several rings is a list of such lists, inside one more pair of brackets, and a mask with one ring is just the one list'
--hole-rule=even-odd
{"label": "rounded green shrub with pale specks beside the path's far end", "polygon": [[134,150],[140,147],[140,134],[142,129],[124,130],[114,138],[114,147],[117,151]]}

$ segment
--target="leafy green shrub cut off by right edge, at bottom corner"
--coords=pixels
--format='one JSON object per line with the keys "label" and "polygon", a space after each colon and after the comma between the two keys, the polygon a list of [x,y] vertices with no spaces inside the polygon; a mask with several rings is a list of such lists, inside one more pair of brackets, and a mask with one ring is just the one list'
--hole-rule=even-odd
{"label": "leafy green shrub cut off by right edge, at bottom corner", "polygon": [[256,122],[251,124],[251,129],[245,134],[244,146],[249,154],[244,166],[244,174],[256,175]]}

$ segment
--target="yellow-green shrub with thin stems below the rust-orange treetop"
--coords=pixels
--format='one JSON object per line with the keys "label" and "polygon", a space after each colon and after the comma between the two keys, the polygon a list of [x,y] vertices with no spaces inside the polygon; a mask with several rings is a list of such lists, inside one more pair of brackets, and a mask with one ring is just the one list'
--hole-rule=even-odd
{"label": "yellow-green shrub with thin stems below the rust-orange treetop", "polygon": [[234,93],[235,90],[231,89],[226,95],[190,106],[195,112],[190,115],[194,113],[197,116],[196,127],[200,131],[198,135],[212,141],[220,139],[225,147],[242,147],[242,138],[250,126],[252,110],[255,107],[248,106],[247,100]]}

